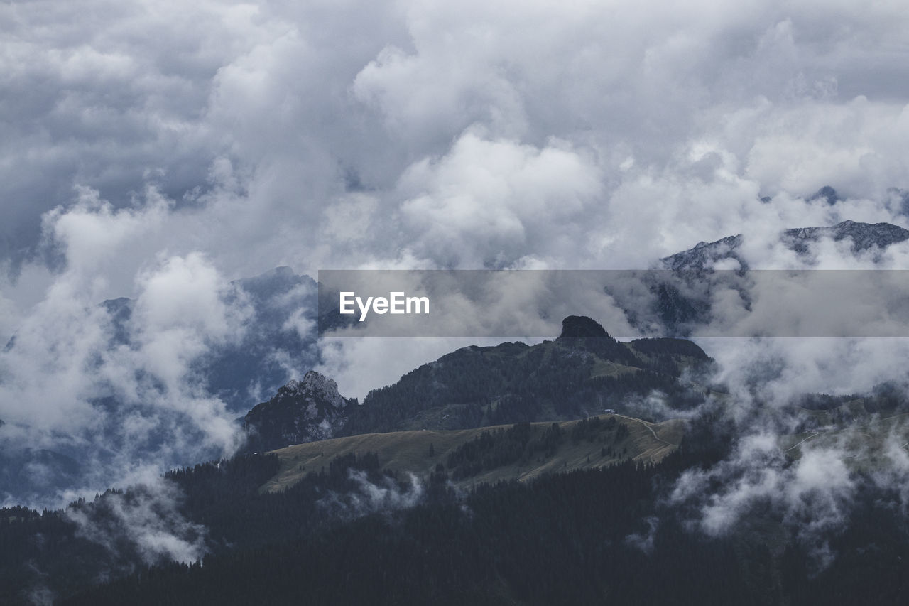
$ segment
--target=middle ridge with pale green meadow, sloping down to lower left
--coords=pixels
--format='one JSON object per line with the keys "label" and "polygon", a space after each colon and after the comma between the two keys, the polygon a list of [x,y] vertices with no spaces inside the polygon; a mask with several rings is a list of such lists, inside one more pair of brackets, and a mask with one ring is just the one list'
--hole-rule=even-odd
{"label": "middle ridge with pale green meadow, sloping down to lower left", "polygon": [[[329,379],[321,383],[331,390]],[[311,377],[309,387],[317,390],[319,381]],[[369,434],[173,470],[155,492],[142,486],[108,490],[65,511],[0,509],[0,603],[35,603],[37,588],[45,595],[54,591],[58,603],[97,582],[128,578],[150,559],[165,564],[163,555],[150,558],[143,550],[148,545],[204,538],[215,559],[267,553],[288,541],[315,540],[371,512],[391,515],[432,502],[457,510],[458,495],[474,484],[614,467],[626,474],[672,456],[683,431],[682,421],[654,425],[603,415],[558,424]],[[178,509],[168,496],[174,492]],[[195,534],[202,524],[204,535]],[[287,601],[262,595],[245,603]]]}

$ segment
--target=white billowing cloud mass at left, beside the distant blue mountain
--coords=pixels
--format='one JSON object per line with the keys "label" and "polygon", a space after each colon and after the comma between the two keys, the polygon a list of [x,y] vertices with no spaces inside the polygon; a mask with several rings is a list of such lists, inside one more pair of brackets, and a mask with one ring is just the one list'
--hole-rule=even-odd
{"label": "white billowing cloud mass at left, beside the distant blue mountain", "polygon": [[[66,267],[0,352],[5,449],[78,460],[85,490],[150,464],[160,471],[226,455],[238,443],[234,415],[195,369],[213,348],[243,337],[250,309],[208,259],[161,257],[141,269],[127,320],[116,319],[119,304],[100,305],[104,277],[95,268],[116,266],[119,250],[155,229],[162,207],[114,210],[90,195],[49,216],[48,241]],[[57,504],[52,495],[22,498]]]}

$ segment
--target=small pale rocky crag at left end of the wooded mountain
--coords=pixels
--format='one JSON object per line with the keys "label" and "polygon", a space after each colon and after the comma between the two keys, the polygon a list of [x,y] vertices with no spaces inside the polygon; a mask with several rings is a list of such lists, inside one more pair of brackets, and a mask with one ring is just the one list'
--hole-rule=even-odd
{"label": "small pale rocky crag at left end of the wooded mountain", "polygon": [[333,438],[344,427],[355,399],[338,393],[335,379],[310,370],[291,380],[275,397],[246,413],[246,449],[265,451],[317,439]]}

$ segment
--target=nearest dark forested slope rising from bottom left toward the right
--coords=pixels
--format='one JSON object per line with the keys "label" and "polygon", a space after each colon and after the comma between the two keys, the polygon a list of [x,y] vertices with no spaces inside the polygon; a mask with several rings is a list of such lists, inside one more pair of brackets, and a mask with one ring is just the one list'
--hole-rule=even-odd
{"label": "nearest dark forested slope rising from bottom left toward the right", "polygon": [[138,570],[64,603],[830,604],[844,595],[904,603],[909,533],[874,491],[834,538],[842,557],[820,572],[811,547],[772,510],[722,539],[686,529],[685,512],[660,495],[724,448],[722,439],[686,441],[658,466],[505,482],[464,498],[440,474],[413,509]]}

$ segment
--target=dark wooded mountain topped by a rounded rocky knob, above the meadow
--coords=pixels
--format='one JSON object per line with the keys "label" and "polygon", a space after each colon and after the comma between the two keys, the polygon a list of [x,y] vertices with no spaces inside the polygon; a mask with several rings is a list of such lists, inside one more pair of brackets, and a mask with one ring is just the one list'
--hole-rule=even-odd
{"label": "dark wooded mountain topped by a rounded rocky knob, above the meadow", "polygon": [[682,408],[703,399],[703,388],[680,378],[710,361],[689,341],[622,343],[591,318],[569,317],[554,341],[460,348],[370,391],[341,435],[578,419],[604,409],[650,415],[642,400],[654,391]]}

